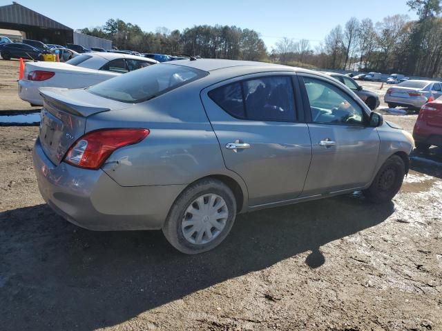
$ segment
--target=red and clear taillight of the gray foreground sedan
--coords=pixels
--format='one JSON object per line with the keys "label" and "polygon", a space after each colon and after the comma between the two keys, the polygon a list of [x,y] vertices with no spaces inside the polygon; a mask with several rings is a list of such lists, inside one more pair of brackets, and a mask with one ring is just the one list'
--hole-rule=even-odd
{"label": "red and clear taillight of the gray foreground sedan", "polygon": [[139,143],[147,129],[104,129],[86,133],[71,146],[64,161],[79,168],[98,169],[117,148]]}

